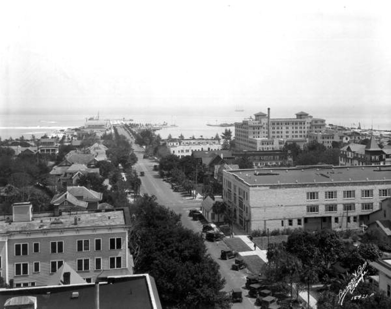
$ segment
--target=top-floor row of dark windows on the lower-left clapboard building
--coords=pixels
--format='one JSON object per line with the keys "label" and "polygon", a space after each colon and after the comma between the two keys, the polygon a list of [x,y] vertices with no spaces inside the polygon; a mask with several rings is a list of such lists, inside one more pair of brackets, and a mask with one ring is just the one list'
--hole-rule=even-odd
{"label": "top-floor row of dark windows on the lower-left clapboard building", "polygon": [[[102,239],[95,238],[94,250],[102,250]],[[32,243],[32,252],[40,252],[39,243]],[[76,241],[77,252],[90,251],[90,239],[78,239]],[[120,250],[122,249],[122,237],[113,237],[109,239],[109,250]],[[63,253],[64,252],[64,241],[50,241],[50,253]],[[28,243],[16,243],[15,244],[15,255],[29,255],[29,244]]]}

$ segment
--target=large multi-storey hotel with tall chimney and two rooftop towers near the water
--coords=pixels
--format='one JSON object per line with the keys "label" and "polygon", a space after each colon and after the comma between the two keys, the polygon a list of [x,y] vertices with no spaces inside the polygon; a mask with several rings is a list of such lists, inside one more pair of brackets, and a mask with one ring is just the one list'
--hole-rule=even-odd
{"label": "large multi-storey hotel with tall chimney and two rooftop towers near the water", "polygon": [[[255,119],[245,119],[235,123],[235,146],[238,150],[278,150],[275,148],[261,149],[262,141],[277,139],[285,141],[307,141],[308,133],[323,132],[326,124],[324,119],[313,118],[305,112],[296,114],[296,118],[270,118],[267,114],[256,113]],[[259,140],[259,142],[258,142]],[[282,148],[282,147],[280,147]]]}

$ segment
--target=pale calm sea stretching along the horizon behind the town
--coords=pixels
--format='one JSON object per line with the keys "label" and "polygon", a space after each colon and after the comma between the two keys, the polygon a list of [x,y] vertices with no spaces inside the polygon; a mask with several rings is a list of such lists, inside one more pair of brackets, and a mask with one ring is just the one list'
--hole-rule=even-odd
{"label": "pale calm sea stretching along the horizon behind the town", "polygon": [[[21,114],[0,114],[0,137],[2,139],[8,139],[12,137],[20,138],[23,136],[26,139],[30,139],[32,135],[36,138],[47,134],[51,135],[57,130],[76,128],[84,125],[86,118],[90,118],[93,115],[21,115]],[[212,138],[217,134],[221,135],[227,127],[215,127],[208,126],[207,124],[219,124],[219,123],[234,123],[242,121],[244,118],[248,118],[250,114],[246,112],[238,112],[228,116],[199,116],[181,115],[181,116],[167,116],[167,115],[136,115],[136,114],[102,114],[100,119],[119,120],[125,118],[126,120],[133,119],[134,123],[151,123],[161,124],[166,122],[168,124],[176,125],[176,127],[165,127],[156,131],[162,138],[167,138],[169,134],[172,137],[178,137],[183,134],[185,138],[191,138],[193,135],[198,138],[203,136],[204,138]],[[342,115],[341,115],[342,116]],[[293,117],[293,115],[291,116]],[[273,117],[272,117],[273,118]],[[377,119],[376,122],[371,119],[357,119],[342,116],[341,118],[326,119],[326,123],[332,123],[334,125],[341,125],[344,127],[357,127],[361,124],[362,129],[374,130],[391,130],[391,123],[388,119]],[[234,134],[235,128],[228,127]]]}

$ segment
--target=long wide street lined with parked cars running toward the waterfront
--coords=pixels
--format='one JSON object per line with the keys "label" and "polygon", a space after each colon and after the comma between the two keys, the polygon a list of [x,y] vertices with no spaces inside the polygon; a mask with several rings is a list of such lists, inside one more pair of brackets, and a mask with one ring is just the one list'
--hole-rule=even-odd
{"label": "long wide street lined with parked cars running toward the waterfront", "polygon": [[[165,205],[176,213],[181,214],[181,221],[185,227],[194,230],[194,232],[201,232],[202,224],[199,221],[193,221],[188,216],[190,209],[199,209],[201,205],[201,199],[194,200],[187,195],[183,195],[181,192],[172,191],[170,184],[164,182],[157,171],[153,170],[154,164],[158,164],[150,159],[143,159],[143,148],[133,143],[133,139],[126,130],[122,127],[117,127],[118,134],[126,136],[133,144],[133,149],[138,157],[138,163],[135,168],[137,172],[144,171],[145,176],[140,177],[142,186],[140,188],[140,194],[148,193],[149,195],[155,195],[158,199],[158,203]],[[205,241],[205,245],[208,248],[208,253],[213,259],[220,265],[220,272],[222,277],[226,279],[226,286],[224,291],[230,291],[232,288],[244,287],[246,282],[246,273],[244,270],[233,271],[231,265],[234,260],[223,261],[220,259],[221,250],[228,250],[228,246],[223,241],[209,242]],[[249,298],[246,289],[242,289],[243,302],[233,304],[232,308],[254,308],[255,298]]]}

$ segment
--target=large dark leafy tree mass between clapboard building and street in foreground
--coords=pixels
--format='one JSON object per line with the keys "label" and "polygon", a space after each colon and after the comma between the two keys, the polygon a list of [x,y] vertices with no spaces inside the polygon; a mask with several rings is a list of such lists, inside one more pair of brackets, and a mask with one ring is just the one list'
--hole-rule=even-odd
{"label": "large dark leafy tree mass between clapboard building and street in foreground", "polygon": [[132,207],[129,247],[135,273],[149,273],[166,308],[230,308],[219,265],[200,233],[182,226],[180,215],[144,195]]}

